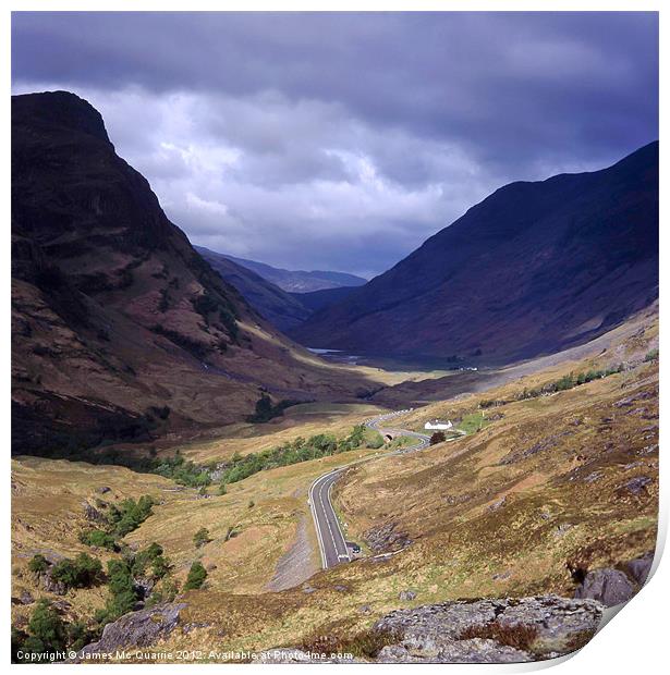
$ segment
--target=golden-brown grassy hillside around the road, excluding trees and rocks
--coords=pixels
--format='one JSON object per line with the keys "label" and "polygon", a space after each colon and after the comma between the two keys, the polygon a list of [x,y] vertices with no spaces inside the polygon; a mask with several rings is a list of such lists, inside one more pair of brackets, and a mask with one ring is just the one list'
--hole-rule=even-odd
{"label": "golden-brown grassy hillside around the road, excluding trees and rocks", "polygon": [[[487,420],[460,440],[349,469],[337,483],[337,508],[348,538],[363,543],[368,556],[326,573],[315,574],[318,554],[307,489],[329,468],[354,455],[374,458],[376,451],[260,471],[229,486],[228,494],[208,499],[125,469],[75,465],[66,476],[69,464],[20,458],[13,474],[13,596],[21,589],[49,596],[32,582],[27,561],[44,549],[68,555],[84,549],[76,540],[77,527],[85,525],[81,503],[101,486],[112,488],[114,500],[150,493],[160,501],[124,538],[131,547],[157,541],[182,587],[194,561],[208,573],[202,589],[178,596],[187,605],[181,627],[151,650],[208,650],[221,635],[227,649],[259,650],[296,645],[315,630],[360,630],[399,606],[456,598],[572,596],[585,570],[622,566],[655,547],[657,347],[658,324],[650,318],[598,357],[553,364],[394,422],[419,429],[434,417]],[[524,390],[541,389],[571,372],[619,364],[621,372],[522,397]],[[352,419],[328,420],[315,409],[307,421],[307,410],[292,427],[282,421],[276,434],[247,435],[242,449],[307,435],[319,424],[343,435]],[[363,410],[351,413],[360,420]],[[188,452],[222,458],[230,456],[229,443],[232,439]],[[203,527],[209,541],[196,547],[194,536]],[[371,557],[382,552],[393,554]],[[269,592],[292,555],[297,586]],[[400,600],[404,590],[416,597]],[[103,602],[98,589],[69,591],[64,599],[68,615],[84,617],[90,605]],[[31,605],[13,606],[19,623],[29,611]]]}

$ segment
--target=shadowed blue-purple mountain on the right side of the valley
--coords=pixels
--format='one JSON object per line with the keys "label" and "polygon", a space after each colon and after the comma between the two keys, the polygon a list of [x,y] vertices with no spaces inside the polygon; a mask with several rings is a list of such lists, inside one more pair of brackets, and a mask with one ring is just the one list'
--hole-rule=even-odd
{"label": "shadowed blue-purple mountain on the right side of the valley", "polygon": [[580,344],[658,295],[658,143],[511,183],[292,335],[356,353],[503,363]]}

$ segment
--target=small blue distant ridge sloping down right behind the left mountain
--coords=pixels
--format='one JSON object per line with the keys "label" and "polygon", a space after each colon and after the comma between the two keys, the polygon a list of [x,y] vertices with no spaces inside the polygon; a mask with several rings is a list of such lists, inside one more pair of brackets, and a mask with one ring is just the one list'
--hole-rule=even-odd
{"label": "small blue distant ridge sloping down right behind the left mountain", "polygon": [[260,316],[281,331],[289,330],[302,323],[310,314],[297,297],[293,297],[279,286],[267,281],[260,274],[234,262],[227,256],[204,248],[194,247],[214,270],[234,286],[246,302]]}

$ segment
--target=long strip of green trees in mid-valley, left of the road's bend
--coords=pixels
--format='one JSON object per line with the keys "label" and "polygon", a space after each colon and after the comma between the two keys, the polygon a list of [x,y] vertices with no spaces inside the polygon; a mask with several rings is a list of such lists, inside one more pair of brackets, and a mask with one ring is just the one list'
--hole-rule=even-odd
{"label": "long strip of green trees in mid-valley, left of the road's bend", "polygon": [[363,445],[367,447],[381,447],[383,439],[378,433],[375,433],[370,439],[366,438],[366,428],[363,425],[357,425],[344,439],[338,440],[332,434],[319,433],[309,439],[299,437],[294,441],[278,447],[259,453],[249,453],[243,457],[235,455],[221,476],[220,493],[226,493],[227,484],[244,480],[258,471],[326,457],[355,450]]}

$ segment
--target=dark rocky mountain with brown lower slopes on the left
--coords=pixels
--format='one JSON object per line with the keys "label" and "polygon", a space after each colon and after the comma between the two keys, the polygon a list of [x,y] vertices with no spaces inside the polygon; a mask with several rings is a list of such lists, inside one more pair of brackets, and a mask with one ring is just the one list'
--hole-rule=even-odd
{"label": "dark rocky mountain with brown lower slopes on the left", "polygon": [[15,453],[202,433],[253,412],[260,388],[355,384],[203,260],[73,94],[12,97],[11,219]]}

